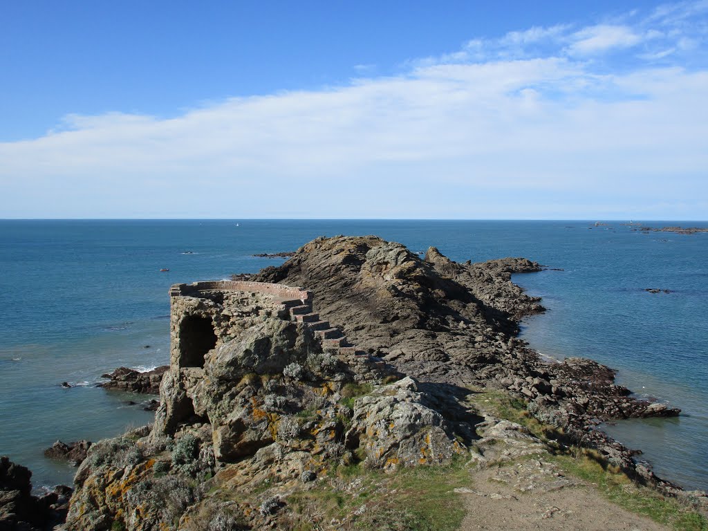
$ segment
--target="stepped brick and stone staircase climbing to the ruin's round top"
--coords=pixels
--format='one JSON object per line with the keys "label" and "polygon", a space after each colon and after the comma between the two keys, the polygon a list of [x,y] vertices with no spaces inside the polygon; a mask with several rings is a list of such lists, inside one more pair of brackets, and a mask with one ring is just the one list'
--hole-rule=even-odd
{"label": "stepped brick and stone staircase climbing to the ruin's round top", "polygon": [[351,367],[355,375],[362,379],[372,379],[372,376],[384,377],[392,374],[384,360],[359,350],[349,343],[340,329],[331,326],[329,321],[321,319],[319,314],[312,312],[312,299],[309,299],[307,304],[300,299],[283,300],[282,304],[292,321],[309,326],[316,336],[319,336],[322,350],[336,355],[339,360]]}

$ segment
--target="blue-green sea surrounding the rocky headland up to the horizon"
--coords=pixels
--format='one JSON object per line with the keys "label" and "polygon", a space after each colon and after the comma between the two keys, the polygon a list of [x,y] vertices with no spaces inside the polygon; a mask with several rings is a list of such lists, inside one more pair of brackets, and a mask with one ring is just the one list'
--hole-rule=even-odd
{"label": "blue-green sea surrounding the rocky headland up to the horizon", "polygon": [[603,362],[637,394],[683,409],[604,428],[660,476],[708,489],[708,234],[594,222],[0,220],[0,454],[30,467],[35,488],[70,484],[74,469],[45,459],[46,447],[151,421],[129,403],[139,398],[95,384],[120,365],[169,362],[171,284],[254,273],[282,263],[254,253],[316,236],[377,234],[455,261],[525,256],[562,268],[514,275],[548,308],[523,322],[523,338],[546,355]]}

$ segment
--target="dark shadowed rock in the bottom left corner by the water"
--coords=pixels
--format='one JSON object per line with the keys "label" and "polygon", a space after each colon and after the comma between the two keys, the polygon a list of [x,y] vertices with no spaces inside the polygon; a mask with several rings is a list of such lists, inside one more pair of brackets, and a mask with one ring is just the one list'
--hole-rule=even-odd
{"label": "dark shadowed rock in the bottom left corner by the water", "polygon": [[57,486],[38,498],[31,494],[32,472],[0,457],[0,530],[44,531],[64,520],[71,489]]}

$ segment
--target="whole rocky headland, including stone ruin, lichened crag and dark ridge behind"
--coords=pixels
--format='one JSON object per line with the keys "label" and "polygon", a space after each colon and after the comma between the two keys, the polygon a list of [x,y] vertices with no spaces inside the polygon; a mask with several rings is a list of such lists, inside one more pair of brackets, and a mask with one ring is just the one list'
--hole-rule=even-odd
{"label": "whole rocky headland, including stone ruin, lichened crag and dark ridge behind", "polygon": [[[448,471],[446,507],[460,463],[469,477],[534,457],[515,481],[552,491],[573,484],[548,462],[571,447],[680,495],[597,429],[678,409],[632,396],[597,362],[544,361],[516,337],[544,309],[511,275],[539,270],[336,236],[257,275],[173,286],[155,422],[91,445],[63,529],[416,529],[386,506],[410,495],[397,474]],[[119,372],[120,389],[143,388]],[[493,396],[523,404],[543,433],[499,418]],[[455,493],[502,496],[485,489]]]}

